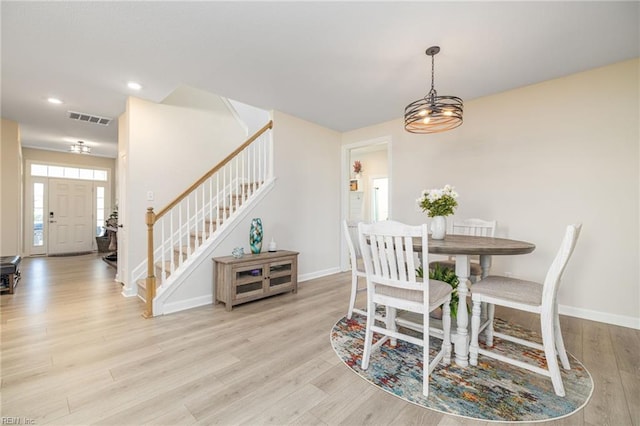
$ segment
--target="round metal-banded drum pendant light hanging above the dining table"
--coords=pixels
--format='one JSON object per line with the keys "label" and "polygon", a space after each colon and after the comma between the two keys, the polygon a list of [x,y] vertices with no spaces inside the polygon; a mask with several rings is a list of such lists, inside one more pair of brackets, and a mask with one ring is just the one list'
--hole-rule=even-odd
{"label": "round metal-banded drum pendant light hanging above the dining table", "polygon": [[411,102],[404,109],[404,128],[411,133],[439,133],[462,124],[462,99],[457,96],[438,96],[433,87],[434,56],[439,46],[427,49],[431,56],[431,90],[424,98]]}

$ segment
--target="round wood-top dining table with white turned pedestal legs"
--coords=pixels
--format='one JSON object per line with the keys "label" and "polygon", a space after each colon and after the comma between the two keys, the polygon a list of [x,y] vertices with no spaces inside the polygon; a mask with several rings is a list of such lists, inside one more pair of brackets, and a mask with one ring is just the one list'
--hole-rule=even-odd
{"label": "round wood-top dining table with white turned pedestal legs", "polygon": [[[414,239],[415,251],[422,251],[422,244]],[[469,276],[472,256],[480,256],[482,278],[489,274],[492,256],[507,256],[531,253],[535,250],[535,244],[512,240],[509,238],[479,237],[472,235],[447,234],[444,239],[433,239],[429,236],[428,252],[430,254],[442,254],[455,257],[456,275],[460,280],[458,284],[458,315],[456,318],[456,330],[452,332],[454,344],[455,362],[461,367],[469,365],[469,312],[467,308],[467,295],[469,294]]]}

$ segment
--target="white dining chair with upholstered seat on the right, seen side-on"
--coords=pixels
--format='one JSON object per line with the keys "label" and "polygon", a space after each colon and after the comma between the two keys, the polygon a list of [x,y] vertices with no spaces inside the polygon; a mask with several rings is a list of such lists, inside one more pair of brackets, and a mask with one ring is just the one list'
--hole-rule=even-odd
{"label": "white dining chair with upholstered seat on the right, seen side-on", "polygon": [[[471,365],[478,365],[478,354],[488,356],[551,377],[556,395],[565,395],[557,356],[560,357],[562,367],[565,370],[569,370],[571,367],[562,340],[556,296],[562,273],[576,246],[581,228],[582,225],[579,224],[567,226],[560,249],[547,271],[544,283],[540,284],[510,277],[488,276],[473,285],[473,294],[471,295],[473,303],[471,346],[469,348],[469,362]],[[480,320],[481,303],[487,303],[489,306],[487,322],[482,325]],[[523,340],[504,333],[494,332],[494,305],[506,306],[508,308],[538,314],[540,316],[540,327],[542,330],[542,344]],[[483,328],[485,329],[486,348],[480,347],[478,343],[479,334]],[[500,348],[491,349],[494,343],[494,336],[520,345],[543,350],[547,364],[546,368],[509,358]]]}

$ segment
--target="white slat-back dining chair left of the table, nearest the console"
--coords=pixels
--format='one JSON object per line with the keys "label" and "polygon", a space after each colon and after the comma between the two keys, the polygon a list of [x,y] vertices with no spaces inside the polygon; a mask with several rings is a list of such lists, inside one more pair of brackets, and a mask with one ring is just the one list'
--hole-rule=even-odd
{"label": "white slat-back dining chair left of the table, nearest the console", "polygon": [[[367,275],[367,311],[375,312],[377,306],[384,306],[385,321],[378,324],[374,315],[367,316],[362,369],[369,368],[371,354],[387,341],[394,347],[397,339],[422,347],[422,393],[429,395],[429,375],[443,361],[451,360],[451,286],[442,281],[422,281],[417,276],[418,257],[414,254],[413,238],[421,240],[421,259],[428,259],[427,225],[405,225],[395,221],[372,224],[358,224],[359,241]],[[429,313],[443,305],[443,340],[438,353],[430,361],[429,356]],[[422,337],[415,337],[398,329],[396,310],[404,310],[422,315],[424,330]],[[374,343],[373,337],[381,337]]]}

